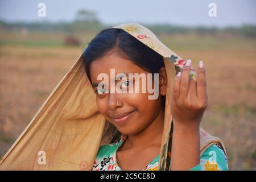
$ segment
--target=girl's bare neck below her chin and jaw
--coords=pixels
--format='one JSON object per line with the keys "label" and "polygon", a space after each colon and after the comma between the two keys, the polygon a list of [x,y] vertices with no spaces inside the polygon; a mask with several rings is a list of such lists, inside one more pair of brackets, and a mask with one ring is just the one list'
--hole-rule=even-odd
{"label": "girl's bare neck below her chin and jaw", "polygon": [[142,147],[142,143],[144,147],[151,144],[159,144],[160,146],[162,142],[163,127],[164,110],[160,109],[158,116],[152,123],[150,123],[150,125],[137,134],[128,135],[126,140],[127,147],[139,148]]}

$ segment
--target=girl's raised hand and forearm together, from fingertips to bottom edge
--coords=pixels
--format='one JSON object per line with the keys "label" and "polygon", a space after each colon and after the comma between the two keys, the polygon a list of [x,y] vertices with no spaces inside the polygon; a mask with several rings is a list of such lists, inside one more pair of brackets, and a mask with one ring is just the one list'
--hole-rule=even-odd
{"label": "girl's raised hand and forearm together, from fingertips to bottom edge", "polygon": [[188,60],[176,75],[171,93],[171,170],[188,170],[200,163],[200,122],[207,108],[207,84],[203,61],[199,62],[196,82],[189,76],[190,69]]}

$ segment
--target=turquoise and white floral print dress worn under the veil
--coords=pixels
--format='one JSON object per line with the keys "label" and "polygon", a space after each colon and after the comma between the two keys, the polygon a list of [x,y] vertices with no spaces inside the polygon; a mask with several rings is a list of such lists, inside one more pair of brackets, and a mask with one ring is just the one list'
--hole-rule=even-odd
{"label": "turquoise and white floral print dress worn under the veil", "polygon": [[[121,135],[119,142],[101,146],[98,150],[92,171],[122,171],[117,163],[117,150],[127,139],[127,135]],[[157,171],[159,155],[151,160],[142,171]],[[228,160],[221,146],[214,144],[205,150],[200,157],[200,164],[193,167],[191,171],[224,171],[228,170]]]}

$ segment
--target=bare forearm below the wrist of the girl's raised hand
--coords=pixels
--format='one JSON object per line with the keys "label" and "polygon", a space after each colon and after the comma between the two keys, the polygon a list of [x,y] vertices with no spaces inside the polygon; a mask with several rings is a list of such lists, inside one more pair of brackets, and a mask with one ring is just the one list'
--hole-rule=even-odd
{"label": "bare forearm below the wrist of the girl's raised hand", "polygon": [[200,163],[200,127],[174,122],[171,170],[189,170]]}

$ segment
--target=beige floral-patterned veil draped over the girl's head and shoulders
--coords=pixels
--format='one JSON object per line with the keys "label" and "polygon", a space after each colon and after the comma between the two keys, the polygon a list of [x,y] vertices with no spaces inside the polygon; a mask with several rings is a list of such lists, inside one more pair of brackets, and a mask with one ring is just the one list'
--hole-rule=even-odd
{"label": "beige floral-patterned veil draped over the girl's head and shoulders", "polygon": [[[176,72],[185,61],[166,47],[156,36],[137,23],[120,24],[121,28],[164,58],[168,83],[164,111],[164,130],[160,147],[159,170],[170,169],[172,115],[170,94]],[[104,137],[106,119],[98,111],[96,95],[85,73],[82,55],[49,95],[26,129],[0,162],[1,170],[90,170]],[[85,57],[86,59],[86,57]],[[191,77],[196,81],[195,69]],[[222,141],[200,129],[200,154]],[[226,151],[225,151],[226,153]]]}

